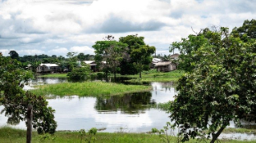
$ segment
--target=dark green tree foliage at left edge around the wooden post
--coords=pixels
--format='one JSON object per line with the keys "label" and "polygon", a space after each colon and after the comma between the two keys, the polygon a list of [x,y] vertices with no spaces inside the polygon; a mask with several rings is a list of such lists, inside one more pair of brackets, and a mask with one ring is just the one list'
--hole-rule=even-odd
{"label": "dark green tree foliage at left edge around the wooden post", "polygon": [[7,123],[17,125],[20,121],[26,121],[26,108],[32,105],[33,128],[38,133],[55,133],[55,110],[47,107],[48,103],[43,97],[22,89],[32,73],[20,66],[17,60],[0,56],[0,102],[4,106],[1,113],[8,117]]}

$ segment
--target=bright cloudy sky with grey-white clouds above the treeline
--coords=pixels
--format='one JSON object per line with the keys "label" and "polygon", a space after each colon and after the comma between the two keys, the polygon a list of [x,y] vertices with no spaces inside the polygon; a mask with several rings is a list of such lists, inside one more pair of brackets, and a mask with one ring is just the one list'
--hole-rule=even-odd
{"label": "bright cloudy sky with grey-white clouds above the treeline", "polygon": [[0,52],[94,54],[91,46],[109,34],[138,34],[156,54],[169,54],[193,30],[255,19],[255,7],[254,0],[0,0]]}

